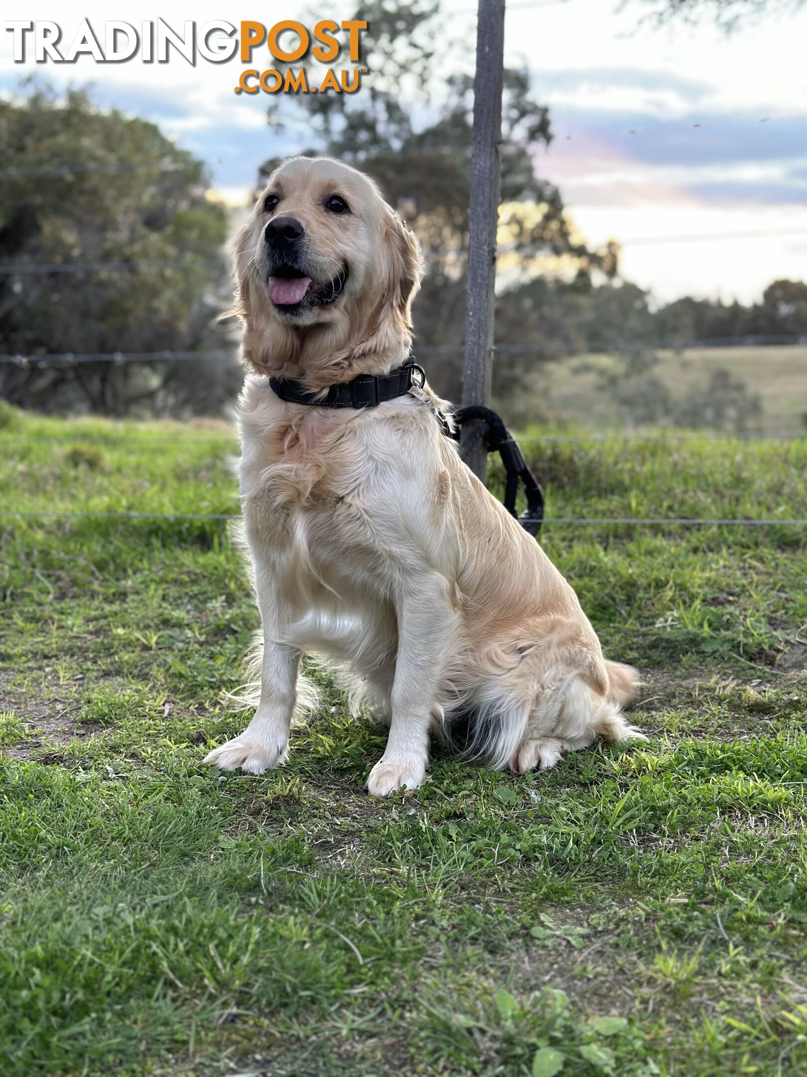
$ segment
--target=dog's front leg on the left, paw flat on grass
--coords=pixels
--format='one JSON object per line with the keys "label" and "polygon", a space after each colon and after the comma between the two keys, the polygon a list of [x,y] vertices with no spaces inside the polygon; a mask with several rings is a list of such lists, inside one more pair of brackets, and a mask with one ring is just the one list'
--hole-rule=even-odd
{"label": "dog's front leg on the left, paw flat on grass", "polygon": [[264,617],[264,659],[260,671],[260,702],[244,731],[204,759],[222,770],[263,774],[285,761],[288,729],[297,698],[300,652],[272,638],[273,619]]}

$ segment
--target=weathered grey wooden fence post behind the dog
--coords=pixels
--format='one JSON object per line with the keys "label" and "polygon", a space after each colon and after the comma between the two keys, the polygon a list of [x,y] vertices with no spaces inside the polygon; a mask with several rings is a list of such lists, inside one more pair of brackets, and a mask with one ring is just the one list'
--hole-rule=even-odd
{"label": "weathered grey wooden fence post behind the dog", "polygon": [[[505,0],[479,0],[463,407],[486,406],[491,398],[504,56]],[[478,428],[477,422],[463,425],[461,452],[484,482],[487,453]]]}

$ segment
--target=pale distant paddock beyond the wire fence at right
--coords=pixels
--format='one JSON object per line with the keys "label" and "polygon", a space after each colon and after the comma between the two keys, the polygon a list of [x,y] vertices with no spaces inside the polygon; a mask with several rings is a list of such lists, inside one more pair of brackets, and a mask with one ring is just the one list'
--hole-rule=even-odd
{"label": "pale distant paddock beyond the wire fence at right", "polygon": [[[688,348],[660,352],[654,369],[680,400],[706,388],[711,374],[723,368],[746,382],[762,403],[762,431],[801,431],[807,422],[807,347]],[[587,417],[589,425],[613,428],[623,421],[619,406],[597,388],[595,369],[612,362],[608,355],[577,355],[552,363],[541,383],[547,407],[570,422]],[[586,367],[584,373],[577,373]]]}

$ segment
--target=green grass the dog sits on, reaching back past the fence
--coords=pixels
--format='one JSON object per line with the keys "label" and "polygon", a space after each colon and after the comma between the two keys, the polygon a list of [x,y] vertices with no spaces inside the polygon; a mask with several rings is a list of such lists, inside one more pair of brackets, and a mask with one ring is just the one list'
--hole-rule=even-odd
{"label": "green grass the dog sits on, reaching back past the fence", "polygon": [[[225,428],[0,423],[2,514],[237,512]],[[550,516],[807,517],[804,440],[530,449]],[[649,741],[376,801],[327,685],[283,770],[201,766],[226,521],[0,516],[3,1077],[807,1072],[807,529],[541,542]]]}

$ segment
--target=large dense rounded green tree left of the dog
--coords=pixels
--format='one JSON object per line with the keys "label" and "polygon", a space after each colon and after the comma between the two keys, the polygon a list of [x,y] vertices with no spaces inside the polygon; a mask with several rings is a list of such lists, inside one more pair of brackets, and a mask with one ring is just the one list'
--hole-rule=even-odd
{"label": "large dense rounded green tree left of the dog", "polygon": [[[227,280],[224,207],[159,129],[41,83],[0,101],[0,352],[196,350]],[[33,266],[117,264],[26,272]],[[121,264],[138,264],[136,269]],[[0,365],[0,395],[44,410],[217,410],[235,369],[196,364]]]}

